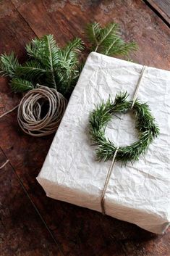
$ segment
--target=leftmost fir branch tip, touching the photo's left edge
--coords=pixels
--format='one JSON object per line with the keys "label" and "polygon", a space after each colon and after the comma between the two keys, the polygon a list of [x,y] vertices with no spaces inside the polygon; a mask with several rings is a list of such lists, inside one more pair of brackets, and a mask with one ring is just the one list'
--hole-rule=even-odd
{"label": "leftmost fir branch tip, touching the photo's left edge", "polygon": [[14,51],[10,54],[1,54],[0,57],[0,73],[3,76],[13,78],[16,75],[16,69],[20,67],[17,57],[14,56]]}

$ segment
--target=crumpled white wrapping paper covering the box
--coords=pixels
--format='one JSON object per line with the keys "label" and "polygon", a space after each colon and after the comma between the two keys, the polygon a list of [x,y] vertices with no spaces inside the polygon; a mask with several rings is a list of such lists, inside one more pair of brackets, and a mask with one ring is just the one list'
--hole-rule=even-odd
{"label": "crumpled white wrapping paper covering the box", "polygon": [[[143,66],[92,52],[72,93],[38,182],[48,197],[101,212],[111,161],[97,162],[88,136],[94,104],[128,91],[132,99]],[[170,72],[147,67],[138,99],[148,102],[160,128],[145,157],[116,162],[105,196],[106,214],[162,234],[170,222]],[[113,117],[106,136],[118,146],[137,140],[132,115]]]}

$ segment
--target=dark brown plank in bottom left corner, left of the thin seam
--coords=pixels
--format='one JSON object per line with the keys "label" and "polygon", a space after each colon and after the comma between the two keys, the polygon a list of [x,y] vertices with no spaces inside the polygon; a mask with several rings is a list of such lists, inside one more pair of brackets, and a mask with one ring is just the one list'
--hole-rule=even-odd
{"label": "dark brown plank in bottom left corner, left of the thin seam", "polygon": [[[0,165],[5,161],[0,149]],[[0,255],[61,256],[10,163],[1,169],[0,183]]]}

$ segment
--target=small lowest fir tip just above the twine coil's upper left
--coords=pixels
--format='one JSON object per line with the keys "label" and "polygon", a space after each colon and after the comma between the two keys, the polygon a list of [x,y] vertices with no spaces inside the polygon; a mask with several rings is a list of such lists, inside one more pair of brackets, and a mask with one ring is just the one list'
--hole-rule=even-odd
{"label": "small lowest fir tip just above the twine coil's upper left", "polygon": [[12,78],[9,84],[14,92],[25,92],[34,88],[32,82],[21,78]]}

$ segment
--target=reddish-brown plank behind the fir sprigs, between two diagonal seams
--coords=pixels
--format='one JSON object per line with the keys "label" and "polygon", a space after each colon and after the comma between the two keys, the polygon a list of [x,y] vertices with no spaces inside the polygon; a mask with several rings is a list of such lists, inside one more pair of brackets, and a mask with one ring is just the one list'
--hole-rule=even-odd
{"label": "reddish-brown plank behind the fir sprigs, between two diagonal seams", "polygon": [[87,22],[119,22],[122,36],[137,41],[139,49],[131,56],[135,62],[170,70],[169,28],[141,0],[12,2],[36,35],[52,33],[61,46],[75,36],[86,43],[82,32]]}

